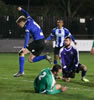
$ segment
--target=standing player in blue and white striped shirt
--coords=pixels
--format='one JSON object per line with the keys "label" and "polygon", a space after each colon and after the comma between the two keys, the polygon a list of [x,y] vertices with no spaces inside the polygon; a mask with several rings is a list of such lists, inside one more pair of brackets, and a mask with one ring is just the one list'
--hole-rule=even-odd
{"label": "standing player in blue and white striped shirt", "polygon": [[64,45],[64,38],[66,36],[70,36],[72,38],[73,42],[76,44],[70,31],[64,27],[63,20],[59,19],[59,20],[57,20],[57,27],[52,30],[51,35],[45,40],[45,43],[47,43],[47,41],[49,41],[53,37],[55,37],[54,64],[58,63],[57,59],[59,56],[59,51]]}

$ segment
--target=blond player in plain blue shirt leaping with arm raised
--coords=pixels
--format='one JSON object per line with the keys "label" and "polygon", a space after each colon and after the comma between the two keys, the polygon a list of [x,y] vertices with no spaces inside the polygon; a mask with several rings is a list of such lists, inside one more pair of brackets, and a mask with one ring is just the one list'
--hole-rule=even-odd
{"label": "blond player in plain blue shirt leaping with arm raised", "polygon": [[[44,35],[40,26],[30,17],[30,15],[21,7],[18,7],[18,11],[23,12],[25,16],[20,16],[16,23],[19,27],[25,28],[25,42],[24,48],[19,51],[19,72],[15,74],[15,77],[24,75],[24,56],[30,53],[29,62],[37,62],[43,59],[47,59],[51,62],[51,57],[48,55],[39,56],[44,49]],[[33,37],[33,42],[29,43],[30,34]]]}

